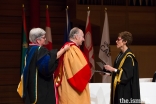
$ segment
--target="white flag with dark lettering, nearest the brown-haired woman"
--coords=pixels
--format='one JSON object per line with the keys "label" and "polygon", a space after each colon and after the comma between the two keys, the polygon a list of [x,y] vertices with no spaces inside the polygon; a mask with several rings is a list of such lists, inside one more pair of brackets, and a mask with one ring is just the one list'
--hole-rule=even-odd
{"label": "white flag with dark lettering, nearest the brown-haired woman", "polygon": [[[105,20],[101,38],[101,45],[99,51],[99,58],[108,65],[112,65],[111,55],[110,55],[110,39],[109,39],[109,25],[107,11],[105,11]],[[102,82],[110,82],[111,77],[104,75]]]}

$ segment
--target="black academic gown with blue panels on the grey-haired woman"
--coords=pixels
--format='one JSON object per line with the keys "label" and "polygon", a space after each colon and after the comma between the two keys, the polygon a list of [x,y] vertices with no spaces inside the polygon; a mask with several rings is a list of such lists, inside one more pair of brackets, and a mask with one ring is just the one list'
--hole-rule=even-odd
{"label": "black academic gown with blue panels on the grey-haired woman", "polygon": [[[31,57],[29,50],[32,47],[28,48],[28,57]],[[53,72],[58,65],[56,58],[57,50],[35,49],[25,74],[25,104],[56,104],[53,81]]]}

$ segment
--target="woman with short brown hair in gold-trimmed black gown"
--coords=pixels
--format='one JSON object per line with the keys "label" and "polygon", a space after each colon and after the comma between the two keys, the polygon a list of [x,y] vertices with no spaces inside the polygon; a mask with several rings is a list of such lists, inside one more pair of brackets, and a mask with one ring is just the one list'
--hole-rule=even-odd
{"label": "woman with short brown hair in gold-trimmed black gown", "polygon": [[114,62],[114,67],[104,65],[106,70],[112,72],[111,104],[141,103],[138,62],[128,47],[131,42],[130,32],[119,33],[116,43],[121,52]]}

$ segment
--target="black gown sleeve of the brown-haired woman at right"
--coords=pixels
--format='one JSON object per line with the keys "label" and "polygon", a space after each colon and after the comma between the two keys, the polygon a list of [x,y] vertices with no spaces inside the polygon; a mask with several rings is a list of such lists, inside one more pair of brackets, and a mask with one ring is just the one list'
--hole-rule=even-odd
{"label": "black gown sleeve of the brown-haired woman at right", "polygon": [[127,84],[130,81],[130,79],[133,77],[133,59],[132,59],[132,57],[127,56],[123,66],[121,68],[123,69],[123,72],[121,75],[120,83]]}

